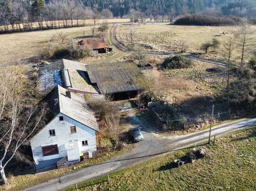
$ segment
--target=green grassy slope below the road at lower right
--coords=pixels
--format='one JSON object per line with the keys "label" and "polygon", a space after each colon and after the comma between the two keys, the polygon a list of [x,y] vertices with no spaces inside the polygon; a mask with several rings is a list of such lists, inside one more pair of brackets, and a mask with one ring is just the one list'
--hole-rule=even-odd
{"label": "green grassy slope below the road at lower right", "polygon": [[[78,185],[80,191],[95,190],[256,190],[256,130],[219,138],[215,144],[204,146],[209,156],[170,169],[170,162],[188,150],[158,157],[107,177]],[[98,183],[98,184],[95,184]],[[81,188],[84,185],[95,184]],[[71,187],[66,190],[74,190]]]}

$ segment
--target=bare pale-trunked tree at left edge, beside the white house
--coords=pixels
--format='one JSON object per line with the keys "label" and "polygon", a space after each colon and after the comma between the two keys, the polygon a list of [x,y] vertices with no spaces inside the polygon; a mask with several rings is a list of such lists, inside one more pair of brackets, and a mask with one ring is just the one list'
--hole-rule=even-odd
{"label": "bare pale-trunked tree at left edge, beside the white house", "polygon": [[[24,69],[17,67],[0,74],[0,175],[3,183],[7,183],[7,164],[39,127],[46,111],[45,106],[40,112],[32,106],[31,89],[24,75]],[[40,115],[35,117],[36,113]]]}

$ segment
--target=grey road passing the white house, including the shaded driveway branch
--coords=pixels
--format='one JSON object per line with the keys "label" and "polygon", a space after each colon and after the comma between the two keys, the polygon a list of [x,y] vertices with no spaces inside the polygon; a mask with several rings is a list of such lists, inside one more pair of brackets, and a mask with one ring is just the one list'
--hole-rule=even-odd
{"label": "grey road passing the white house, including the shaded driveway branch", "polygon": [[[126,153],[113,160],[84,168],[77,172],[52,179],[46,183],[27,188],[25,191],[58,191],[68,186],[90,180],[91,178],[106,175],[107,173],[127,168],[143,160],[156,157],[160,154],[169,153],[184,147],[189,147],[196,143],[206,141],[209,132],[204,130],[184,136],[162,136],[155,133],[154,130],[141,122],[135,115],[131,113],[129,118],[131,126],[141,128],[144,141],[138,143],[136,148],[130,153]],[[231,122],[224,125],[216,126],[212,130],[212,136],[220,136],[228,132],[242,130],[248,126],[256,125],[256,119],[244,119],[238,122]]]}

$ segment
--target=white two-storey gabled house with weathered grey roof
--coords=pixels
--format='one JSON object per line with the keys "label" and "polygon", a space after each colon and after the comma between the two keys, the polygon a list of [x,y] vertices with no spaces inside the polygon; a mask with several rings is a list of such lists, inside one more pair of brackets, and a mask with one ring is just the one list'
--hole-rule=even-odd
{"label": "white two-storey gabled house with weathered grey roof", "polygon": [[85,100],[59,85],[46,99],[50,122],[30,140],[36,169],[77,162],[96,151],[99,126]]}

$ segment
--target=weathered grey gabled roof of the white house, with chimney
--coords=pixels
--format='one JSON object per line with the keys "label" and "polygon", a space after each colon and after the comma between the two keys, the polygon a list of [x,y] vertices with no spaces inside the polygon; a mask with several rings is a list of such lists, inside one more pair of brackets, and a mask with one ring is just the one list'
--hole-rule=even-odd
{"label": "weathered grey gabled roof of the white house, with chimney", "polygon": [[65,88],[57,85],[57,87],[48,94],[47,101],[52,117],[62,113],[95,131],[99,131],[94,113],[86,104],[85,100],[73,92],[70,92],[71,98],[69,98],[66,96],[66,92],[67,90]]}

